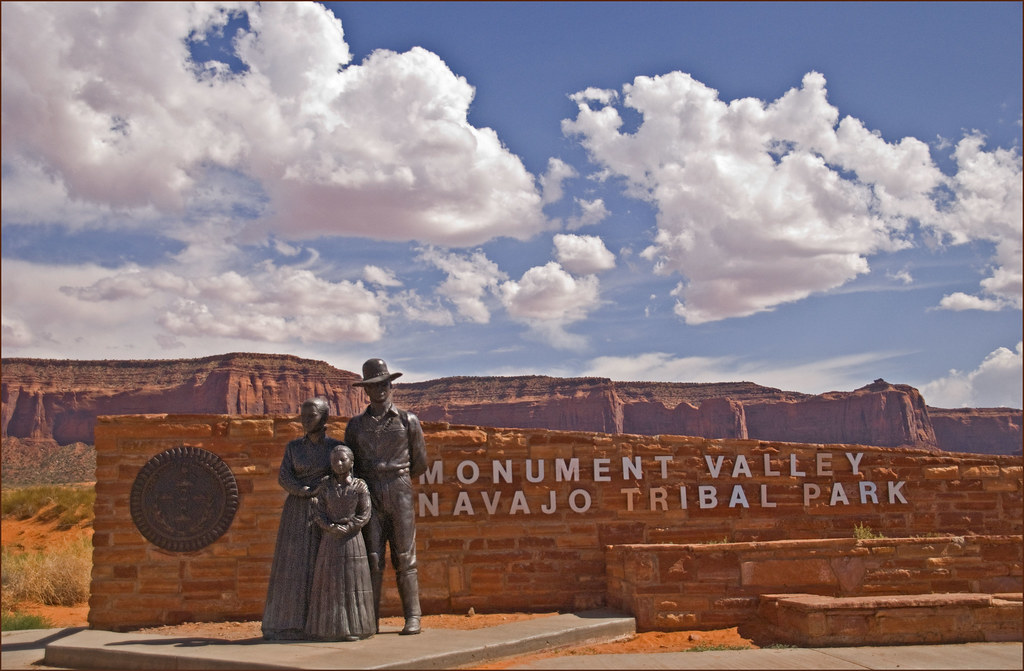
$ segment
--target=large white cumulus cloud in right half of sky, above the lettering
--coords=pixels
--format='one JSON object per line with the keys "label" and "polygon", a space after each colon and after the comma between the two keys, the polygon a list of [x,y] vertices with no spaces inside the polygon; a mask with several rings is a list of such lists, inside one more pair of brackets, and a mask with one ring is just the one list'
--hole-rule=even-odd
{"label": "large white cumulus cloud in right half of sky, above the lettering", "polygon": [[[985,154],[976,161],[984,168],[975,168],[976,143],[962,143],[962,174],[950,181],[924,142],[890,143],[856,119],[841,121],[820,74],[769,103],[723,101],[681,72],[637,77],[623,91],[622,104],[642,117],[635,132],[622,130],[617,98],[597,90],[572,96],[578,114],[562,122],[563,132],[580,136],[602,171],[624,177],[628,195],[656,207],[656,236],[643,256],[655,271],[684,278],[674,295],[687,323],[754,314],[840,287],[869,271],[870,255],[911,245],[911,220],[989,235],[994,224],[968,234],[940,208],[949,190],[958,207],[978,205],[970,200],[981,194],[975,172],[998,180],[979,196],[996,201],[996,218],[1017,204],[1019,240],[1015,155]],[[1012,267],[1020,249],[1014,232],[992,237],[1008,248],[1000,267]],[[1009,294],[995,275],[990,284]]]}

